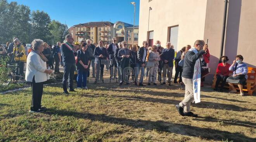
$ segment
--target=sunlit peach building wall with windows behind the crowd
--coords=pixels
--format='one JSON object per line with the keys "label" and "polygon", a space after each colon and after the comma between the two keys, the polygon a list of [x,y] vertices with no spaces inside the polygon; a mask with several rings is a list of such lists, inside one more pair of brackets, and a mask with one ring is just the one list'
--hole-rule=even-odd
{"label": "sunlit peach building wall with windows behind the crowd", "polygon": [[[138,45],[154,30],[154,43],[168,41],[168,27],[178,25],[178,49],[204,38],[206,0],[140,0]],[[149,7],[152,8],[149,14]]]}

